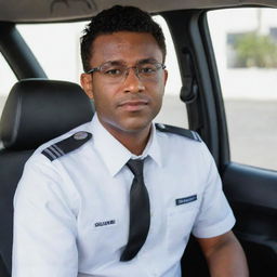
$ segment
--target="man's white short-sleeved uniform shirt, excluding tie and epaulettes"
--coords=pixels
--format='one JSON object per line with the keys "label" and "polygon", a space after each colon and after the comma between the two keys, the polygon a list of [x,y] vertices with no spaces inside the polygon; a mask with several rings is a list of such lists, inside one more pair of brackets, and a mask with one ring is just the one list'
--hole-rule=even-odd
{"label": "man's white short-sleeved uniform shirt, excluding tie and epaulettes", "polygon": [[[78,131],[81,147],[50,161],[41,151]],[[189,234],[228,232],[235,219],[205,143],[153,126],[143,154],[150,199],[145,245],[129,262],[120,254],[129,234],[133,155],[94,116],[55,138],[27,161],[14,199],[13,277],[179,277]]]}

